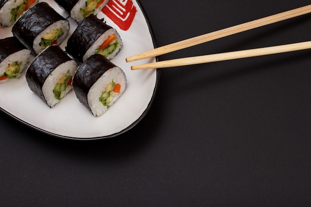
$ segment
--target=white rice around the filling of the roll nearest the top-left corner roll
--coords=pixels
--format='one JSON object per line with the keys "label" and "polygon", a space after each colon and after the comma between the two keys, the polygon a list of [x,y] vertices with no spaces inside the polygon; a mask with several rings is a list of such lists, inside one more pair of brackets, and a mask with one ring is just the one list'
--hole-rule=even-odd
{"label": "white rice around the filling of the roll nearest the top-left corner roll", "polygon": [[61,29],[64,32],[64,34],[57,39],[57,45],[60,45],[66,39],[70,30],[69,21],[59,20],[51,24],[34,39],[32,47],[37,55],[45,49],[44,46],[39,45],[39,43],[41,42],[41,38],[44,37],[47,33],[52,33],[55,29]]}

